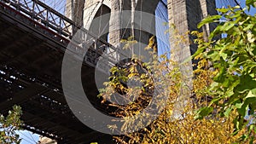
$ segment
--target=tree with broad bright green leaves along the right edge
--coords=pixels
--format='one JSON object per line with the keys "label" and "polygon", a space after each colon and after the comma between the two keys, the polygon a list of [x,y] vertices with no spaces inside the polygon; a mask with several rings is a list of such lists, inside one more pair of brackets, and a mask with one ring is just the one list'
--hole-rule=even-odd
{"label": "tree with broad bright green leaves along the right edge", "polygon": [[[247,9],[255,6],[255,1],[247,0]],[[235,114],[234,134],[246,130],[241,140],[253,143],[256,133],[253,122],[256,118],[256,17],[246,14],[239,6],[218,9],[218,12],[219,15],[209,16],[198,25],[200,28],[223,19],[207,41],[200,32],[193,32],[198,36],[194,58],[208,64],[199,69],[212,67],[216,72],[211,78],[212,84],[197,93],[212,97],[212,101],[197,112],[197,118],[215,114],[230,118]],[[224,37],[215,40],[220,34]]]}

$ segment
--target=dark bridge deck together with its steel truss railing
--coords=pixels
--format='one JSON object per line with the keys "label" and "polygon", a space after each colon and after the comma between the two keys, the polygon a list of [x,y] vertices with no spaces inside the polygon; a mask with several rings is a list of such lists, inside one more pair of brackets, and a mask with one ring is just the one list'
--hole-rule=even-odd
{"label": "dark bridge deck together with its steel truss railing", "polygon": [[[110,135],[90,130],[74,117],[61,90],[61,62],[75,28],[72,20],[37,0],[0,0],[0,112],[20,105],[24,129],[58,143],[109,142]],[[94,40],[92,47],[104,44],[115,51]],[[79,43],[73,47],[82,49]],[[95,103],[100,103],[94,80],[98,56],[90,49],[81,76]]]}

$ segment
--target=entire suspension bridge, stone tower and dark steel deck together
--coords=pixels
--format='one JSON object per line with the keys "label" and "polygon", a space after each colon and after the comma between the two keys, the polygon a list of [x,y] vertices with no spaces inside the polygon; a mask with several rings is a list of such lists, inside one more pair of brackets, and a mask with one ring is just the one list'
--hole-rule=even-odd
{"label": "entire suspension bridge, stone tower and dark steel deck together", "polygon": [[[12,106],[19,105],[25,130],[58,143],[112,141],[111,135],[82,124],[67,106],[61,86],[61,66],[68,44],[74,50],[89,48],[82,66],[84,91],[90,102],[104,112],[101,100],[96,96],[99,92],[95,67],[102,55],[97,49],[104,46],[108,65],[112,66],[118,61],[113,55],[119,54],[119,41],[131,36],[128,28],[111,31],[124,25],[120,22],[122,19],[111,15],[111,12],[134,9],[154,14],[185,33],[196,30],[196,25],[207,15],[217,14],[217,7],[237,4],[235,0],[63,0],[55,2],[55,5],[52,3],[45,0],[0,0],[0,112],[7,113]],[[93,20],[103,14],[110,16],[102,20],[101,25],[95,24]],[[145,23],[150,23],[155,29],[159,26],[155,20],[143,21],[141,25]],[[99,25],[99,30],[108,31],[107,34],[99,37],[98,32],[91,28],[93,25]],[[132,25],[132,16],[131,22],[125,25]],[[213,28],[213,25],[208,26],[202,31],[211,32]],[[77,31],[86,33],[90,39],[84,39],[83,43],[73,42],[71,39]],[[152,34],[139,31],[134,32],[135,39],[148,43]],[[172,48],[172,35],[162,35],[156,36],[167,37]],[[170,48],[169,45],[165,46],[160,41],[157,44],[159,52],[170,50],[162,49]],[[193,44],[188,48],[185,51],[187,55],[196,50]]]}

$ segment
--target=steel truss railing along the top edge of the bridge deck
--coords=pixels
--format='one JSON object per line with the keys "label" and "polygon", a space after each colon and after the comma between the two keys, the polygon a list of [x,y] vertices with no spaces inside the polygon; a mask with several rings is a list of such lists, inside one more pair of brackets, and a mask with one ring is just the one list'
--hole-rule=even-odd
{"label": "steel truss railing along the top edge of the bridge deck", "polygon": [[[26,17],[28,17],[29,19],[35,21],[41,26],[44,26],[48,28],[50,31],[57,34],[58,38],[55,37],[55,34],[51,34],[49,37],[55,39],[56,41],[59,41],[59,43],[61,42],[61,44],[65,42],[64,46],[65,44],[67,46],[67,43],[71,42],[71,44],[73,44],[73,47],[76,47],[76,49],[79,50],[83,50],[83,44],[89,44],[88,42],[86,42],[88,41],[88,39],[86,38],[83,41],[80,41],[79,43],[73,42],[71,39],[74,34],[74,29],[79,29],[84,34],[91,37],[95,41],[95,43],[93,46],[89,45],[90,53],[85,55],[87,56],[87,59],[85,58],[85,62],[89,63],[91,66],[96,66],[96,59],[98,59],[99,55],[102,55],[102,51],[99,51],[96,48],[104,47],[104,52],[107,55],[104,56],[104,60],[106,60],[106,62],[108,61],[108,64],[111,63],[112,66],[115,64],[115,62],[119,61],[119,57],[124,57],[120,55],[125,55],[122,54],[122,52],[119,49],[115,48],[107,41],[94,35],[93,33],[89,32],[83,27],[75,26],[73,20],[68,19],[65,15],[57,12],[55,9],[50,8],[48,5],[38,0],[0,0],[0,2],[4,3],[11,9],[15,9],[16,12],[26,15]],[[17,18],[17,16],[13,16]],[[94,59],[93,56],[95,55],[96,58]]]}

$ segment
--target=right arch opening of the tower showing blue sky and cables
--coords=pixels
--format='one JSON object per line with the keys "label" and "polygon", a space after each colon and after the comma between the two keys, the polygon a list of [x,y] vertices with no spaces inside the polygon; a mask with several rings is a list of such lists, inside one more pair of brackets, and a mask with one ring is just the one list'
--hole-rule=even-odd
{"label": "right arch opening of the tower showing blue sky and cables", "polygon": [[168,24],[167,0],[155,0],[150,3],[145,0],[137,0],[135,10],[154,14],[156,17],[154,20],[145,20],[143,17],[140,18],[139,26],[135,26],[134,30],[135,39],[140,43],[149,43],[149,39],[153,34],[143,31],[143,26],[149,23],[152,27],[152,32],[155,33],[154,42],[157,44],[158,54],[161,55],[170,52],[169,34],[167,32],[169,26],[166,25]]}

